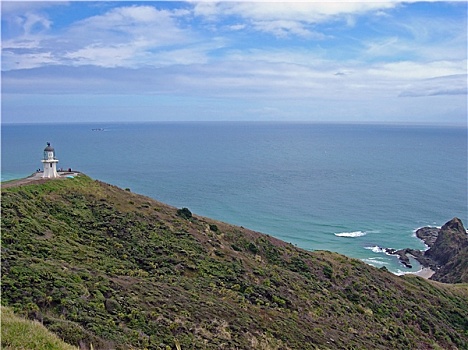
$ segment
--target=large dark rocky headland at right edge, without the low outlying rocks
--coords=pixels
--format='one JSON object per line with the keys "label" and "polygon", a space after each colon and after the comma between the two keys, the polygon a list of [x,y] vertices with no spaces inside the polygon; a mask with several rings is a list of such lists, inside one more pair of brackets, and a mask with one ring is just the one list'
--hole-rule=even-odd
{"label": "large dark rocky headland at right edge, without the low outlying rocks", "polygon": [[433,280],[468,282],[468,235],[460,219],[453,218],[442,226],[434,244],[424,255],[440,266],[432,276]]}

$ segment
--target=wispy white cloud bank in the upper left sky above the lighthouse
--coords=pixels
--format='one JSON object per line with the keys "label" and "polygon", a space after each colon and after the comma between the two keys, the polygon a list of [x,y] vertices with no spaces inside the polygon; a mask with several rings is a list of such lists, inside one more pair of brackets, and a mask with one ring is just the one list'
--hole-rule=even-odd
{"label": "wispy white cloud bank in the upper left sky above the lighthouse", "polygon": [[[53,32],[49,30],[52,23],[46,17],[27,12],[22,17],[16,16],[22,20],[24,33],[2,43],[2,69],[32,68],[51,63],[102,67],[158,65],[161,62],[159,50],[165,52],[170,48],[187,53],[189,49],[183,47],[200,40],[191,30],[179,27],[176,18],[186,14],[184,9],[168,11],[152,6],[119,6],[75,22],[61,32]],[[38,27],[43,30],[38,32]],[[195,51],[200,59],[200,50]],[[48,59],[41,62],[37,59],[40,55]]]}

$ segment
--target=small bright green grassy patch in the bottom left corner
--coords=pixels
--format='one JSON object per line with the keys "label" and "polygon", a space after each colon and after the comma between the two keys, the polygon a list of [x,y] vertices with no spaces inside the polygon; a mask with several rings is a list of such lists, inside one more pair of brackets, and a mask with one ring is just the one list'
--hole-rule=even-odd
{"label": "small bright green grassy patch in the bottom left corner", "polygon": [[18,317],[10,308],[2,306],[3,350],[77,350],[60,340],[37,321]]}

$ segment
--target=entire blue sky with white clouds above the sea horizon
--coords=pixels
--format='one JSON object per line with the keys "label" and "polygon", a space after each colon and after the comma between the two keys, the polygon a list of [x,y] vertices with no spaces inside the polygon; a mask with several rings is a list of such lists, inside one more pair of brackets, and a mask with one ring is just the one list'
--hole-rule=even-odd
{"label": "entire blue sky with white clouds above the sea horizon", "polygon": [[1,1],[2,123],[467,124],[467,2]]}

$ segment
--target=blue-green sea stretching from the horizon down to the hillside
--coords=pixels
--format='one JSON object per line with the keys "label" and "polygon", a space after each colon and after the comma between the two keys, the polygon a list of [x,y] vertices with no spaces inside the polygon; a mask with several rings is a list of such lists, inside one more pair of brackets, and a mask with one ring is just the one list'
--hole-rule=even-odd
{"label": "blue-green sea stretching from the horizon down to the hillside", "polygon": [[415,229],[468,224],[466,127],[2,125],[2,181],[41,168],[46,142],[58,167],[395,273],[410,270],[381,247],[424,249]]}

